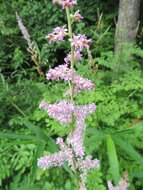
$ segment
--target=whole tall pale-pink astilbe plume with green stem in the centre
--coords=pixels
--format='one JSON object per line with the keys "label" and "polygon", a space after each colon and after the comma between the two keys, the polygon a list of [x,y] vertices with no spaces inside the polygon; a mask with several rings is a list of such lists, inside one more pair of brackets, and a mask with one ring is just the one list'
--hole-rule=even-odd
{"label": "whole tall pale-pink astilbe plume with green stem in the centre", "polygon": [[[68,31],[63,27],[56,27],[52,33],[47,35],[49,42],[63,41],[68,34],[71,43],[71,52],[64,59],[65,64],[52,68],[46,74],[47,80],[64,80],[70,84],[70,90],[66,95],[70,95],[70,100],[61,100],[54,104],[42,101],[40,109],[47,111],[48,115],[57,120],[60,124],[66,124],[70,128],[70,133],[65,141],[57,138],[59,152],[43,156],[38,159],[38,166],[43,169],[64,165],[65,162],[74,172],[79,172],[79,189],[86,190],[87,173],[91,169],[99,168],[99,160],[92,159],[92,156],[85,154],[84,135],[86,130],[86,117],[96,110],[94,103],[87,105],[76,105],[73,96],[81,90],[91,90],[94,84],[89,79],[77,74],[74,63],[82,59],[83,48],[89,49],[91,40],[85,35],[72,35],[70,25],[73,21],[80,21],[83,17],[79,10],[70,14],[70,8],[77,4],[76,0],[53,0],[63,9],[66,9],[68,18]],[[70,22],[71,19],[71,22]],[[73,20],[72,20],[73,19]]]}

